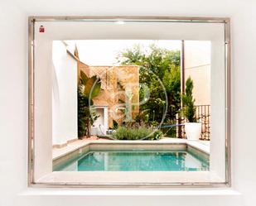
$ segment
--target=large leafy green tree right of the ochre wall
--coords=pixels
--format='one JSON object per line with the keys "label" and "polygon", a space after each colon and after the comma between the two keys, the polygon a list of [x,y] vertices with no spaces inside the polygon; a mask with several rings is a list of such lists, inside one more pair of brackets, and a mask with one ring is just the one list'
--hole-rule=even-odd
{"label": "large leafy green tree right of the ochre wall", "polygon": [[[140,105],[142,111],[150,109],[148,120],[161,122],[167,105],[165,91],[159,80],[167,91],[167,121],[174,119],[181,106],[180,51],[166,50],[155,45],[150,46],[149,50],[142,49],[142,46],[136,45],[132,49],[124,50],[119,54],[118,62],[122,65],[139,66],[139,82],[146,84],[150,92],[147,103]],[[144,99],[144,94],[144,89],[141,88],[140,101]]]}

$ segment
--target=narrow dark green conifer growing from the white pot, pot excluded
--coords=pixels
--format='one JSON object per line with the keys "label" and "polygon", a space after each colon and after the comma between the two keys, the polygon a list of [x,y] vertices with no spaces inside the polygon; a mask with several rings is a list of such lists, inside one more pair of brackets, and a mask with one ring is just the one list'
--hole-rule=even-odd
{"label": "narrow dark green conifer growing from the white pot, pot excluded", "polygon": [[196,106],[195,98],[193,98],[193,80],[191,77],[186,79],[186,93],[181,95],[183,108],[181,114],[187,118],[189,122],[196,122]]}

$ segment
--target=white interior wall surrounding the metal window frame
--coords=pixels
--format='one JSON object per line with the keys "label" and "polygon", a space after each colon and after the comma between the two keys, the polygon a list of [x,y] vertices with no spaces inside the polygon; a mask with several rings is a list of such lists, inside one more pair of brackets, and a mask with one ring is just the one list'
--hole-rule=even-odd
{"label": "white interior wall surrounding the metal window frame", "polygon": [[[0,205],[228,205],[256,203],[254,146],[256,2],[253,0],[24,0],[0,2]],[[27,190],[27,16],[166,15],[231,17],[232,25],[232,185],[241,195],[220,189]],[[41,191],[43,196],[37,192]],[[54,192],[53,192],[54,191]],[[22,194],[21,194],[22,193]],[[36,193],[36,194],[35,194]],[[66,195],[63,195],[66,194]],[[109,194],[109,195],[107,195]],[[176,195],[178,194],[178,195]]]}

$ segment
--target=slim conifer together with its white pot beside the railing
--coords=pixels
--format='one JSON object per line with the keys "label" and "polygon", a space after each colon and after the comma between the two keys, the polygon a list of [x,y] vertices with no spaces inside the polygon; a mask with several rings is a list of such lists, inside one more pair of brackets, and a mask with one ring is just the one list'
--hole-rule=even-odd
{"label": "slim conifer together with its white pot beside the railing", "polygon": [[193,98],[193,80],[186,79],[186,93],[181,95],[183,108],[181,114],[186,117],[185,132],[188,140],[199,140],[201,135],[201,122],[196,122],[195,98]]}

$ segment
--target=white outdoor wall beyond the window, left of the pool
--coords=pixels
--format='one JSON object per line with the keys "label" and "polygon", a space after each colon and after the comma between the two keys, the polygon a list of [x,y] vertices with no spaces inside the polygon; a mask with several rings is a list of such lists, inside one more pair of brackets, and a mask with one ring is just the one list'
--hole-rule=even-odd
{"label": "white outdoor wall beyond the window, left of the pool", "polygon": [[78,138],[77,61],[61,41],[52,42],[52,61],[52,144],[63,144]]}

